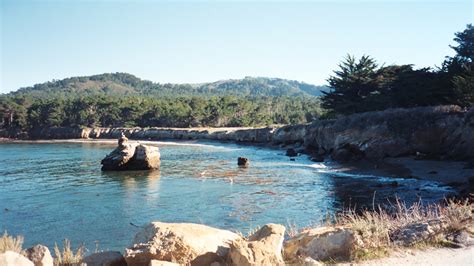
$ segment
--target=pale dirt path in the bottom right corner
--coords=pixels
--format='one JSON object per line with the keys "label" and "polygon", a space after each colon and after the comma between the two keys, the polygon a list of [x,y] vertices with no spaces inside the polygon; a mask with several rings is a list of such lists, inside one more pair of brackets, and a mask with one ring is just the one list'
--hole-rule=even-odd
{"label": "pale dirt path in the bottom right corner", "polygon": [[474,266],[474,246],[460,249],[428,249],[418,251],[400,251],[388,258],[365,261],[356,265],[439,265]]}

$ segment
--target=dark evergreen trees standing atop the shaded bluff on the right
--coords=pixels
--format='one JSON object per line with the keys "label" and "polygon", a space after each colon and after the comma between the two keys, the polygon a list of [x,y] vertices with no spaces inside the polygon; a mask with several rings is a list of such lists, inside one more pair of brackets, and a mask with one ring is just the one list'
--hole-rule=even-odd
{"label": "dark evergreen trees standing atop the shaded bluff on the right", "polygon": [[348,55],[330,76],[332,88],[323,92],[322,107],[329,116],[384,110],[474,103],[474,28],[455,34],[456,52],[437,69],[413,65],[378,65],[370,56]]}

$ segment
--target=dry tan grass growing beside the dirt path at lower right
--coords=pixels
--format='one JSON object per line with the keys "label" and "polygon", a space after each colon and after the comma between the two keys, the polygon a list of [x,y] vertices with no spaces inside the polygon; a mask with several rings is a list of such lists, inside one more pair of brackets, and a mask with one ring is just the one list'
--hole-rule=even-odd
{"label": "dry tan grass growing beside the dirt path at lower right", "polygon": [[[474,221],[474,204],[466,201],[447,201],[445,204],[423,206],[421,203],[410,207],[397,201],[393,209],[366,210],[356,213],[347,210],[336,216],[335,224],[349,227],[359,238],[354,251],[354,260],[386,256],[394,248],[390,234],[411,224],[439,221],[443,233],[470,230]],[[471,232],[472,233],[472,232]],[[429,239],[415,243],[414,248],[443,245],[442,239]]]}

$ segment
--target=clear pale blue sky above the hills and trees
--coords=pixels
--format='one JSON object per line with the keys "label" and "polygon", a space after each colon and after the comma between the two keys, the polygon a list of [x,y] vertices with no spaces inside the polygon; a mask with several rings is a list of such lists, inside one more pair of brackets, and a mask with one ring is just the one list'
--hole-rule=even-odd
{"label": "clear pale blue sky above the hills and trees", "polygon": [[111,72],[322,85],[345,55],[439,66],[473,2],[0,0],[0,93]]}

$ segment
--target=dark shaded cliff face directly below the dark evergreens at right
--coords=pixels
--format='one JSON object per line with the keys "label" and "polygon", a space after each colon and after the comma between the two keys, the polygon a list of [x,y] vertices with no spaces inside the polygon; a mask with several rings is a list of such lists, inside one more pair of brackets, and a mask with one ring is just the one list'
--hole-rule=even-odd
{"label": "dark shaded cliff face directly below the dark evergreens at right", "polygon": [[381,159],[414,155],[474,159],[474,108],[457,106],[388,109],[315,121],[304,145],[333,159]]}

